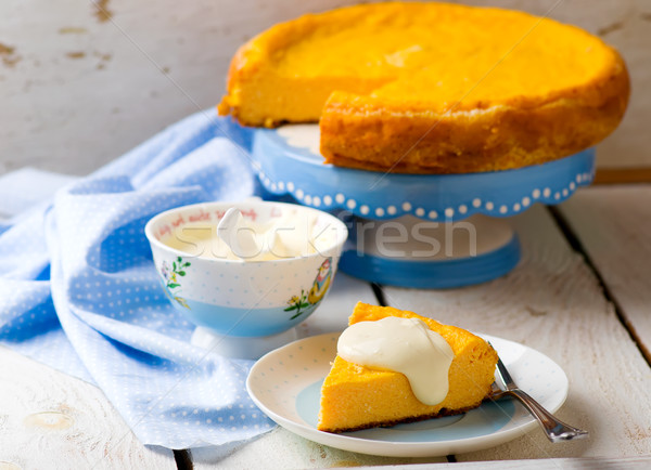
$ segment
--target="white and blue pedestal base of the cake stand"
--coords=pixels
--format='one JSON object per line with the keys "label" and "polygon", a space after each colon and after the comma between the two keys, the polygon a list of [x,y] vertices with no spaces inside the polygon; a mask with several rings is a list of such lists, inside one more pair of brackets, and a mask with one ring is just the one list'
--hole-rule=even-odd
{"label": "white and blue pedestal base of the cake stand", "polygon": [[481,214],[458,222],[353,217],[348,231],[340,269],[392,286],[480,284],[507,274],[520,259],[518,235],[509,221]]}

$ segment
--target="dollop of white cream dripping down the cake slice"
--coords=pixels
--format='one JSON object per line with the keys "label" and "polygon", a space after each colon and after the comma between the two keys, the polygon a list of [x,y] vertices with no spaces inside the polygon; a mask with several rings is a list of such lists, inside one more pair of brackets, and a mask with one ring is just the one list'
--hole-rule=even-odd
{"label": "dollop of white cream dripping down the cake slice", "polygon": [[404,374],[425,405],[439,404],[448,393],[455,353],[419,318],[387,316],[350,325],[340,336],[337,354],[349,363]]}

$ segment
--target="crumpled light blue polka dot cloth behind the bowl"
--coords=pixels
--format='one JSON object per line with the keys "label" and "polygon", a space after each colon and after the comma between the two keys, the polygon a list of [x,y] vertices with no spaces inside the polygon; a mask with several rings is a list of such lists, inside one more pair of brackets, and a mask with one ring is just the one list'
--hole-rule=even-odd
{"label": "crumpled light blue polka dot cloth behind the bowl", "polygon": [[0,223],[0,342],[95,383],[144,444],[226,452],[273,427],[246,393],[252,361],[190,344],[143,231],[174,207],[259,194],[226,127],[190,116]]}

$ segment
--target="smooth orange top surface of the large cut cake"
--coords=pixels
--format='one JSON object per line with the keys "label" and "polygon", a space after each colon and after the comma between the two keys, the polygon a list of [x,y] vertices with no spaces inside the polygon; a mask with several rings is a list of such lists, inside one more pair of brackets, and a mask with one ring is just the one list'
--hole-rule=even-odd
{"label": "smooth orange top surface of the large cut cake", "polygon": [[[445,38],[445,40],[442,40]],[[447,3],[363,4],[304,15],[257,39],[280,76],[371,81],[369,97],[474,109],[552,101],[596,81],[616,51],[577,27]]]}

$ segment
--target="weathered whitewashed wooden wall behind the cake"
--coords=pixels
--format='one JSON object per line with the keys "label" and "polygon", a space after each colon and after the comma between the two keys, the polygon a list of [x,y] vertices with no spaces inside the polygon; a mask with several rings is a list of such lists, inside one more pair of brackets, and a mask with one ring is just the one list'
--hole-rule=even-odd
{"label": "weathered whitewashed wooden wall behind the cake", "polygon": [[[0,173],[26,165],[86,174],[214,106],[231,55],[279,21],[352,0],[2,0]],[[599,147],[603,167],[651,166],[649,0],[469,0],[546,14],[624,54],[634,95]]]}

